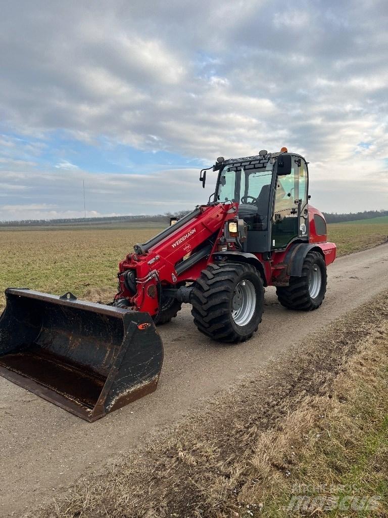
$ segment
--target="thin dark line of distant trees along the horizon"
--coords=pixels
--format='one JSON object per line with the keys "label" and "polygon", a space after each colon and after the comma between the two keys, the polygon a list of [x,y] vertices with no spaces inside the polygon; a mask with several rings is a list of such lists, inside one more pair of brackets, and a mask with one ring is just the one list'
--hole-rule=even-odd
{"label": "thin dark line of distant trees along the horizon", "polygon": [[[98,223],[98,222],[128,222],[128,223],[145,223],[160,222],[169,223],[170,218],[183,218],[188,210],[180,210],[176,212],[166,212],[165,214],[140,214],[135,216],[107,216],[99,218],[57,218],[55,220],[20,220],[20,221],[2,221],[2,227],[23,227],[23,226],[50,226],[50,225],[68,225],[82,223]],[[338,214],[337,212],[323,212],[327,223],[340,223],[343,221],[366,220],[378,218],[379,216],[387,216],[388,210],[364,210],[364,212],[349,212],[346,214]]]}

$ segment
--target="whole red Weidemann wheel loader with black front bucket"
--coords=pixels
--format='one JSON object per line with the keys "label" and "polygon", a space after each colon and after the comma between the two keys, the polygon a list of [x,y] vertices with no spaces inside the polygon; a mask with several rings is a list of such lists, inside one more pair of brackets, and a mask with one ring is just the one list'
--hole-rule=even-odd
{"label": "whole red Weidemann wheel loader with black front bucket", "polygon": [[111,306],[7,289],[0,375],[94,421],[156,389],[163,353],[154,324],[182,303],[201,333],[227,343],[258,330],[265,286],[288,309],[317,309],[336,246],[309,205],[303,156],[282,148],[219,157],[201,171],[203,186],[209,169],[218,176],[208,203],[136,244]]}

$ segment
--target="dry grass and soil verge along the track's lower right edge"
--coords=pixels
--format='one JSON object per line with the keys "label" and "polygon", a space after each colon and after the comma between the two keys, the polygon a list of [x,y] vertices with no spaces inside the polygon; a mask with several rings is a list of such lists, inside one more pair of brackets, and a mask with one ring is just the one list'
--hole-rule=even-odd
{"label": "dry grass and soil verge along the track's lower right edge", "polygon": [[[353,496],[385,498],[386,300],[339,319],[34,517],[281,517],[306,483],[320,497],[353,484]],[[308,502],[315,508],[296,515],[322,514],[325,501]],[[378,503],[374,516],[388,516]]]}

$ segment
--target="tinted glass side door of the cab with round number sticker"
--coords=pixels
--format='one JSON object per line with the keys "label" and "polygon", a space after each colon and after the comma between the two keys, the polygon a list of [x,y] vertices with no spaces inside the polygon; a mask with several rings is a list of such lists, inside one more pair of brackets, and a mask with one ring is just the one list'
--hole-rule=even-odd
{"label": "tinted glass side door of the cab with round number sticker", "polygon": [[308,239],[307,165],[291,157],[291,173],[278,175],[275,184],[271,249],[281,250],[296,239]]}

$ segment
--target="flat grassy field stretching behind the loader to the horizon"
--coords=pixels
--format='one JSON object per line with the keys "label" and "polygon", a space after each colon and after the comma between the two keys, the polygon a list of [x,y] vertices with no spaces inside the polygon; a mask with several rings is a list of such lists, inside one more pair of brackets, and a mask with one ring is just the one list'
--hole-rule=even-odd
{"label": "flat grassy field stretching behind the loader to the horizon", "polygon": [[[116,287],[118,263],[160,232],[160,227],[0,229],[0,309],[8,286],[107,302]],[[328,225],[328,239],[337,244],[338,256],[365,250],[387,240],[388,224]]]}

